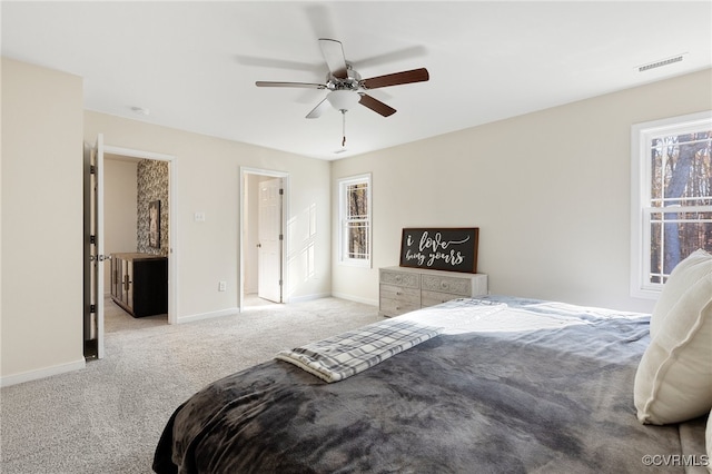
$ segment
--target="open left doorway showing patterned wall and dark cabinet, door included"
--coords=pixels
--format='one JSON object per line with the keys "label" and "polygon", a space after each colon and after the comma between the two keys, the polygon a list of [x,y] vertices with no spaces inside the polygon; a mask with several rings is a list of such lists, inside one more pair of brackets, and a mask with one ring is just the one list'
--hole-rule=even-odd
{"label": "open left doorway showing patterned wall and dark cabinet, door included", "polygon": [[[105,172],[107,162],[111,168],[113,161],[129,164],[127,169],[130,178],[119,180],[117,186],[112,186],[117,184],[112,179],[116,175],[110,171],[107,179]],[[164,164],[164,176],[160,179],[151,176],[155,174],[150,166],[152,161]],[[167,190],[155,195],[148,189],[149,186],[141,182],[141,174],[145,175],[144,180],[165,180],[164,187]],[[105,189],[107,184],[108,191]],[[97,135],[93,144],[83,144],[83,354],[86,359],[105,357],[107,296],[111,297],[112,303],[116,302],[116,306],[130,313],[128,317],[165,315],[160,324],[177,323],[175,303],[177,249],[175,225],[170,224],[175,223],[177,209],[171,188],[175,188],[172,156],[108,146],[103,142],[103,134]],[[141,199],[148,201],[146,209],[140,205]],[[161,200],[165,200],[162,211],[159,210]],[[147,221],[141,223],[142,219]],[[117,245],[111,240],[117,225],[126,227],[130,235],[136,233],[136,238],[131,237],[129,244]],[[105,231],[109,235],[109,246],[105,246],[107,240]],[[166,238],[160,234],[165,234]],[[144,244],[144,240],[148,240],[148,244]],[[154,251],[141,253],[142,245],[151,247]],[[164,247],[162,253],[161,247]],[[121,265],[118,265],[119,261]],[[151,269],[146,270],[144,264],[147,261],[149,264],[159,261],[161,267],[156,270],[154,265],[149,265]],[[162,288],[164,296],[160,298],[154,297],[157,293],[152,286],[155,284]],[[145,286],[149,286],[148,292],[135,290]],[[113,298],[115,295],[119,298]],[[146,295],[149,295],[148,302]],[[162,306],[156,308],[155,300],[160,302]],[[109,306],[110,313],[115,314],[113,304]]]}

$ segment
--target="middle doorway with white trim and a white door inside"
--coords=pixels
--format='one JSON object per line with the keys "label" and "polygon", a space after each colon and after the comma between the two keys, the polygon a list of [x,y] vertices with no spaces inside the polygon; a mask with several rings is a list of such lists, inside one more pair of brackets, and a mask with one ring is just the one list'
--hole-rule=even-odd
{"label": "middle doorway with white trim and a white door inside", "polygon": [[287,303],[288,175],[240,169],[240,310]]}

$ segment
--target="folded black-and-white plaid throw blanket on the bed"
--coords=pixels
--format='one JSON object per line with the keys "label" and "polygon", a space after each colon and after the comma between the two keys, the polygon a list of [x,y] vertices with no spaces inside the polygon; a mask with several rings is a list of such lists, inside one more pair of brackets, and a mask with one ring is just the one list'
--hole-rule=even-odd
{"label": "folded black-and-white plaid throw blanket on the bed", "polygon": [[439,327],[415,322],[388,319],[291,350],[281,350],[275,358],[333,383],[435,337],[441,330]]}

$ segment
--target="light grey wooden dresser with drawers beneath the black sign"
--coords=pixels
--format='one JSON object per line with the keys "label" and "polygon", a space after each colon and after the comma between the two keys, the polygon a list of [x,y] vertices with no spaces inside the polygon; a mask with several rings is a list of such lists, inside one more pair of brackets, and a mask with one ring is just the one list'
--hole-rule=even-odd
{"label": "light grey wooden dresser with drawers beneath the black sign", "polygon": [[487,294],[487,275],[408,267],[379,269],[378,312],[390,317]]}

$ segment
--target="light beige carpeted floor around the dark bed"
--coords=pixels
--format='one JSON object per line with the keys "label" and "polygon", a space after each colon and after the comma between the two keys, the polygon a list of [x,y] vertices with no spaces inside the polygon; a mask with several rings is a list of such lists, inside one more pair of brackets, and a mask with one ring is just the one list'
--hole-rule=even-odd
{"label": "light beige carpeted floor around the dark bed", "polygon": [[168,417],[202,386],[376,320],[377,307],[337,298],[182,325],[134,319],[109,304],[103,359],[0,389],[0,472],[150,473]]}

